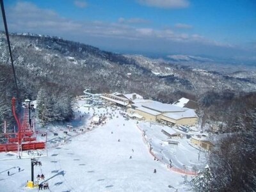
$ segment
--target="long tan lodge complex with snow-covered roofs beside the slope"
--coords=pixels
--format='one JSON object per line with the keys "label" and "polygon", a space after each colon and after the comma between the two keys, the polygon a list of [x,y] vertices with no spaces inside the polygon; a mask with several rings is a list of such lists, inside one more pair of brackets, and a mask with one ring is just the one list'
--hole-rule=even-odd
{"label": "long tan lodge complex with snow-covered roofs beside the slope", "polygon": [[[148,121],[159,120],[169,124],[195,125],[198,120],[198,116],[193,109],[180,107],[175,104],[165,104],[155,100],[145,100],[136,93],[104,93],[100,95],[100,98],[117,106],[131,108],[127,109],[128,113],[136,113],[140,115],[140,118],[143,116]],[[180,100],[182,105],[188,101],[185,98]]]}

